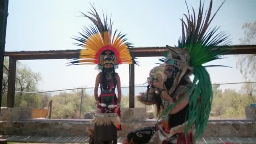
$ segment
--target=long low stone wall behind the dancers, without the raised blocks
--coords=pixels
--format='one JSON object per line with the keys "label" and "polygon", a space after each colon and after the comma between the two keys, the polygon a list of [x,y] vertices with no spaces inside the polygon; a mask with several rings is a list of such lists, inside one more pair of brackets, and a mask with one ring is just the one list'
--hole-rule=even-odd
{"label": "long low stone wall behind the dancers, without the raised blocks", "polygon": [[[155,120],[124,122],[119,136],[126,136],[136,128],[152,126]],[[93,127],[88,120],[22,120],[0,121],[0,135],[29,136],[79,136],[87,135],[87,128]],[[256,121],[211,120],[203,136],[211,137],[256,137]]]}

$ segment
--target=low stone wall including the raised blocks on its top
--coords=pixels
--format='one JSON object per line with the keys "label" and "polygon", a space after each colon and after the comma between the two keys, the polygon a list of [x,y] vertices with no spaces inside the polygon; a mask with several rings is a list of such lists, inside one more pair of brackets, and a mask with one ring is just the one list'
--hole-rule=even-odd
{"label": "low stone wall including the raised blocks on its top", "polygon": [[[6,111],[1,111],[0,135],[79,136],[87,135],[87,129],[93,127],[90,120],[25,120],[31,116],[29,109],[23,109],[23,112],[11,109],[9,114],[12,115]],[[126,136],[136,128],[155,125],[156,120],[145,120],[145,117],[144,108],[122,108],[122,131],[118,132],[119,136]],[[256,120],[210,120],[203,136],[256,137]]]}

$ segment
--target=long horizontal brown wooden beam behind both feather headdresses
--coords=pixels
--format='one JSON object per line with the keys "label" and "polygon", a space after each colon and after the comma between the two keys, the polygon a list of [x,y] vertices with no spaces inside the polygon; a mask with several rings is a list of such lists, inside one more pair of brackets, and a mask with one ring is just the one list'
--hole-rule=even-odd
{"label": "long horizontal brown wooden beam behind both feather headdresses", "polygon": [[[227,54],[255,54],[256,45],[232,45]],[[131,53],[136,57],[163,56],[163,52],[168,51],[165,47],[141,47],[130,48]],[[16,60],[29,59],[69,59],[78,55],[80,50],[62,51],[17,51],[5,52],[4,56],[11,56]]]}

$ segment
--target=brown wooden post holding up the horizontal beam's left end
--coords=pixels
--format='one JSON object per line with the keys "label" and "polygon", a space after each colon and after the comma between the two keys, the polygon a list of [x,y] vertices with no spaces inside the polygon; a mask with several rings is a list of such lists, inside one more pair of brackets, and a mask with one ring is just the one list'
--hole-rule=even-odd
{"label": "brown wooden post holding up the horizontal beam's left end", "polygon": [[16,60],[12,59],[12,57],[9,57],[7,107],[14,107],[15,79],[16,79]]}

